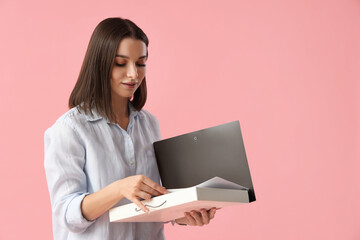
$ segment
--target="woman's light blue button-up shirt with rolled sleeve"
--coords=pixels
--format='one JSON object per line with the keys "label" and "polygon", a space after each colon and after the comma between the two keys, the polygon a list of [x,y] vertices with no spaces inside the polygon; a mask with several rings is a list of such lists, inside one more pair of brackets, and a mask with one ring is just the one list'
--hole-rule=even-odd
{"label": "woman's light blue button-up shirt with rolled sleeve", "polygon": [[[164,239],[163,223],[110,223],[106,212],[87,221],[81,201],[112,182],[143,174],[159,183],[152,143],[160,140],[158,120],[129,103],[127,130],[94,115],[70,109],[45,132],[45,172],[55,240]],[[115,206],[129,203],[126,198]],[[114,206],[114,207],[115,207]]]}

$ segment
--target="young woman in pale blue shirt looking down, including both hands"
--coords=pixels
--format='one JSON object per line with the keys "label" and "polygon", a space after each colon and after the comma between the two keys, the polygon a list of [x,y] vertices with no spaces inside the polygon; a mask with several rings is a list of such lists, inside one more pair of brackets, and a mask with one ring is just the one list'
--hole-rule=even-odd
{"label": "young woman in pale blue shirt looking down, including both hands", "polygon": [[[163,223],[110,223],[108,210],[166,194],[152,143],[159,123],[146,102],[149,41],[128,19],[95,28],[70,110],[45,132],[45,171],[54,239],[164,239]],[[191,211],[175,222],[202,226],[214,218]]]}

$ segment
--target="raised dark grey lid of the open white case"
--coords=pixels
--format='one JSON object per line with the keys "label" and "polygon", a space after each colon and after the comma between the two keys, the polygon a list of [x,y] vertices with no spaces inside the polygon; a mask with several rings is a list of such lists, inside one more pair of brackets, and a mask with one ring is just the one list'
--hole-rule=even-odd
{"label": "raised dark grey lid of the open white case", "polygon": [[248,188],[249,201],[256,200],[239,121],[154,142],[154,150],[168,189],[218,176]]}

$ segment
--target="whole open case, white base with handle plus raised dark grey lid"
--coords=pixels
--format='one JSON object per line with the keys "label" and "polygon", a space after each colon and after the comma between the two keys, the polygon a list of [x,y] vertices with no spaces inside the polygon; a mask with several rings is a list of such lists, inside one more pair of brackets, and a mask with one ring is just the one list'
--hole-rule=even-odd
{"label": "whole open case, white base with handle plus raised dark grey lid", "polygon": [[[111,222],[165,222],[184,212],[256,200],[239,121],[154,142],[162,185],[170,192],[109,211]],[[170,189],[170,190],[169,190]]]}

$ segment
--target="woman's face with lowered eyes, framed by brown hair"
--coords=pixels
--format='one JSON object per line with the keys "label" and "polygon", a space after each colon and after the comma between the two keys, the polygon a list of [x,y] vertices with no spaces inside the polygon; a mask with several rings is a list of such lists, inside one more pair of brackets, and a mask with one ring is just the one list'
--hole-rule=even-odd
{"label": "woman's face with lowered eyes, framed by brown hair", "polygon": [[146,45],[141,40],[120,41],[111,71],[112,98],[129,98],[140,86],[146,72]]}

